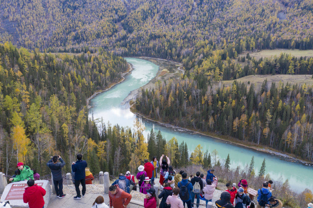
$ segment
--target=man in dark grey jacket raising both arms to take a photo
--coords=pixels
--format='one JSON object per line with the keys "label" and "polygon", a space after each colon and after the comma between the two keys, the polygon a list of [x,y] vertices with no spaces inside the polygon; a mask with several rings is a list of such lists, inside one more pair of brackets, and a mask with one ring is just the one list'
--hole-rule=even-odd
{"label": "man in dark grey jacket raising both arms to take a photo", "polygon": [[[60,162],[58,162],[58,160]],[[65,196],[65,194],[63,194],[63,177],[61,170],[61,168],[65,166],[65,162],[61,156],[53,156],[51,157],[51,160],[47,162],[47,166],[50,168],[52,173],[54,189],[57,197],[61,199]]]}

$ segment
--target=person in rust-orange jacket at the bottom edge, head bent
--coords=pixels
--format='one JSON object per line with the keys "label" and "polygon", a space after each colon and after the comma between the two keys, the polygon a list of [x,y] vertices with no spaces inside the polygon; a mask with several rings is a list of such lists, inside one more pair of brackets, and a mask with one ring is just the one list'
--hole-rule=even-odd
{"label": "person in rust-orange jacket at the bottom edge, head bent", "polygon": [[110,208],[126,208],[131,201],[131,195],[114,185],[109,187],[109,199]]}

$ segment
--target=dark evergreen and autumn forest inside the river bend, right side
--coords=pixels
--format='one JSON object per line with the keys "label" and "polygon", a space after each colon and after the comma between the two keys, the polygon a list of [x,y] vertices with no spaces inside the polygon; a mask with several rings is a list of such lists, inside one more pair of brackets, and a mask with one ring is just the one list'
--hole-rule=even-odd
{"label": "dark evergreen and autumn forest inside the river bend, right side", "polygon": [[260,91],[243,83],[203,87],[196,79],[142,90],[136,110],[149,118],[267,145],[313,161],[313,91],[265,80]]}

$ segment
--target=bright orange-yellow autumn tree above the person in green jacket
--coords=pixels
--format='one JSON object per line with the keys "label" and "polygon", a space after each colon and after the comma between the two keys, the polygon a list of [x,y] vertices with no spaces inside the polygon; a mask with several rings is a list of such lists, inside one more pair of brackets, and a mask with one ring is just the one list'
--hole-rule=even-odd
{"label": "bright orange-yellow autumn tree above the person in green jacket", "polygon": [[16,159],[17,161],[22,162],[23,156],[27,153],[27,146],[30,142],[25,134],[25,129],[19,125],[14,126],[11,139],[13,141],[13,147],[16,150]]}

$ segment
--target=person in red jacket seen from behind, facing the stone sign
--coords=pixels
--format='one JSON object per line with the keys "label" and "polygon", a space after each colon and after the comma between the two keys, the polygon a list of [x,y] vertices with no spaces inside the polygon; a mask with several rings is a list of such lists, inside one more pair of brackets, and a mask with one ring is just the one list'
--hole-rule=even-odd
{"label": "person in red jacket seen from behind, facing the stone sign", "polygon": [[28,203],[29,208],[44,208],[46,190],[34,184],[35,181],[33,179],[27,181],[28,187],[25,188],[25,192],[23,193],[23,202]]}

